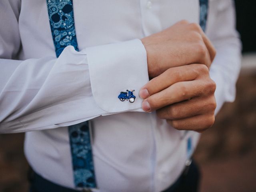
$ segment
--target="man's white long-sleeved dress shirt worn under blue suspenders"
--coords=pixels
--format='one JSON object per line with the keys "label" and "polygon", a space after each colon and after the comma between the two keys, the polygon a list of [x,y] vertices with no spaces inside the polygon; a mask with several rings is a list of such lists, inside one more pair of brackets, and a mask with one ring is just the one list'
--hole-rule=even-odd
{"label": "man's white long-sleeved dress shirt worn under blue suspenders", "polygon": [[[46,0],[0,2],[0,132],[26,132],[25,154],[44,178],[74,188],[67,126],[91,120],[100,192],[160,192],[178,178],[187,140],[142,112],[140,88],[148,82],[146,50],[139,40],[186,19],[199,22],[199,0],[73,0],[79,52],[57,59]],[[216,113],[235,98],[240,41],[232,0],[209,0],[206,34],[217,55]],[[118,94],[134,89],[135,102]]]}

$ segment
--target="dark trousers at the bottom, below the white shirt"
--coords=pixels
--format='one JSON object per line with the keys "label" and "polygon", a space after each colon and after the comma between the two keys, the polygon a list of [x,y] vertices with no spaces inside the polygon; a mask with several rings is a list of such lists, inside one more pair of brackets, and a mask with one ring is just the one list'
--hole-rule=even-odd
{"label": "dark trousers at the bottom, below the white shirt", "polygon": [[[53,184],[33,171],[29,173],[29,180],[29,192],[78,192],[77,190]],[[163,192],[198,192],[199,180],[200,172],[198,166],[194,161],[192,161],[190,166],[185,168],[184,172],[176,182]]]}

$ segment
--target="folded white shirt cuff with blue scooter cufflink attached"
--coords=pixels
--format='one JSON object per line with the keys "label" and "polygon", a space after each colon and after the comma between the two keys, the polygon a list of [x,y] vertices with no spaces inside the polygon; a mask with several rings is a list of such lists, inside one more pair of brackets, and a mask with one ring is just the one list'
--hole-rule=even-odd
{"label": "folded white shirt cuff with blue scooter cufflink attached", "polygon": [[92,94],[98,106],[109,113],[142,112],[142,99],[138,94],[149,80],[146,50],[142,42],[135,39],[94,46],[86,48],[85,52]]}

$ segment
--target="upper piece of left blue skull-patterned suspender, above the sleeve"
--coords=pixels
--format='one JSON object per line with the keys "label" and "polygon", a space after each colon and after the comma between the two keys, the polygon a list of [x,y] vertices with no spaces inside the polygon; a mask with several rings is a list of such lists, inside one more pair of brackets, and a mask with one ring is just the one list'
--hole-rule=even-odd
{"label": "upper piece of left blue skull-patterned suspender, above the sleeve", "polygon": [[46,0],[56,56],[74,46],[78,51],[72,0]]}

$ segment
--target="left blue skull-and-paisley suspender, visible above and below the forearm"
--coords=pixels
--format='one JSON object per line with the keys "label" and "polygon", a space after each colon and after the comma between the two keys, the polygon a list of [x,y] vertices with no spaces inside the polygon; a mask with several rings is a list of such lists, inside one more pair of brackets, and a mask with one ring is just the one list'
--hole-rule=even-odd
{"label": "left blue skull-and-paisley suspender, visible above and below the forearm", "polygon": [[[68,45],[78,51],[72,0],[46,0],[56,56]],[[68,127],[74,184],[79,188],[97,188],[88,121]]]}

